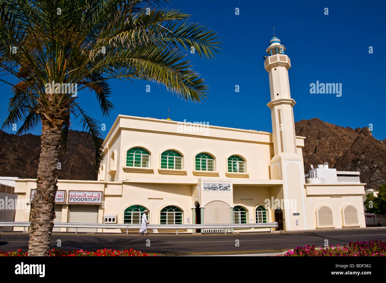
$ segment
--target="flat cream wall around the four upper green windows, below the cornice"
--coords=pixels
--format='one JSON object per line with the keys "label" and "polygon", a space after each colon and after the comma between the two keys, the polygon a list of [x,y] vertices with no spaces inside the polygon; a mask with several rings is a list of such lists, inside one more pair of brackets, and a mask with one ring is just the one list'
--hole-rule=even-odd
{"label": "flat cream wall around the four upper green windows, below the cornice", "polygon": [[145,147],[151,153],[151,168],[153,168],[154,171],[153,173],[125,173],[122,169],[123,164],[121,164],[119,168],[119,180],[125,180],[130,176],[142,177],[144,175],[146,175],[147,178],[163,178],[165,176],[169,178],[169,174],[161,174],[157,170],[161,168],[161,153],[169,149],[181,153],[183,156],[183,169],[186,170],[185,175],[174,175],[173,178],[194,177],[195,175],[193,175],[192,171],[195,169],[195,156],[198,153],[206,152],[215,158],[215,171],[219,172],[220,178],[227,178],[225,176],[227,171],[227,158],[231,155],[238,155],[246,160],[246,173],[249,173],[249,178],[269,179],[269,146],[267,145],[218,141],[199,137],[172,136],[168,134],[159,134],[157,135],[157,139],[154,139],[152,133],[134,131],[122,131],[121,138],[127,141],[125,148],[122,148],[120,154],[122,161],[125,160],[124,156],[127,149],[142,144],[142,147]]}

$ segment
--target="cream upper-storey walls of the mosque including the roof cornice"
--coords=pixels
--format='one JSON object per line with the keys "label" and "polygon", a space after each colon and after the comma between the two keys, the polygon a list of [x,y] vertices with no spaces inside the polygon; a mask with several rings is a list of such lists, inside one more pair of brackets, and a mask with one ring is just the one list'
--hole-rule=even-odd
{"label": "cream upper-storey walls of the mosque including the roof cornice", "polygon": [[[195,169],[195,155],[205,152],[215,158],[215,171],[219,172],[220,178],[227,178],[227,158],[235,154],[245,159],[249,178],[269,179],[269,160],[273,156],[269,133],[212,125],[204,129],[206,132],[181,132],[183,125],[179,122],[123,115],[119,115],[113,125],[119,126],[122,130],[110,130],[104,142],[108,159],[112,150],[119,152],[119,165],[114,181],[126,180],[129,177],[169,178],[170,175],[158,171],[161,166],[161,153],[168,149],[178,151],[184,158],[183,170],[186,170],[186,173],[173,175],[173,178],[195,176],[192,173]],[[143,147],[151,153],[151,173],[124,172],[122,167],[126,165],[126,152],[132,147]],[[105,164],[106,161],[107,158],[104,160]]]}

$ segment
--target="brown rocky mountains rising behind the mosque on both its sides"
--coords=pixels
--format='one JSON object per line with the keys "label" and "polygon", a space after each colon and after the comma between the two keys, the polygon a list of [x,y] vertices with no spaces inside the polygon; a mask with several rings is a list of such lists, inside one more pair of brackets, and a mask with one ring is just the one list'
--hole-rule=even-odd
{"label": "brown rocky mountains rising behind the mosque on both its sides", "polygon": [[[339,171],[360,171],[366,189],[378,189],[386,182],[386,139],[378,141],[367,127],[354,130],[314,118],[296,122],[295,129],[296,135],[306,137],[306,173],[311,164],[328,162]],[[87,136],[86,132],[70,131],[67,153],[60,158],[59,179],[97,180],[95,147]],[[15,136],[0,130],[0,176],[36,178],[39,155],[39,136]]]}

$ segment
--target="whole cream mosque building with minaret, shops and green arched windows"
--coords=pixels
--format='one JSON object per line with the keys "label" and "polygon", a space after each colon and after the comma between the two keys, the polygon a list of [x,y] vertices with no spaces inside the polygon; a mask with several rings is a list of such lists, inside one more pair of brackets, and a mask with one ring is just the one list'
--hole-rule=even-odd
{"label": "whole cream mosque building with minaret, shops and green arched windows", "polygon": [[[322,164],[304,173],[305,137],[295,134],[291,62],[284,51],[273,37],[264,56],[272,133],[119,115],[103,142],[98,180],[58,181],[54,222],[139,224],[148,210],[150,224],[278,222],[278,230],[366,227],[366,184],[360,183],[359,172]],[[18,199],[33,200],[35,181],[15,180]],[[16,210],[15,221],[29,220],[30,204]]]}

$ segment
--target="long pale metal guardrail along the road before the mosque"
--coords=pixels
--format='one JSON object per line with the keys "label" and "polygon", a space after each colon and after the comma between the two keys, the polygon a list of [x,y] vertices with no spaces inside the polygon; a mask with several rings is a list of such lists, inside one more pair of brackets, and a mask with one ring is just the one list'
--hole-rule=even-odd
{"label": "long pale metal guardrail along the road before the mosque", "polygon": [[[0,227],[30,227],[31,222],[0,222]],[[54,227],[59,228],[75,228],[75,233],[78,233],[78,228],[106,228],[106,229],[126,229],[126,234],[129,229],[139,229],[141,224],[109,224],[109,223],[55,223]],[[215,229],[215,228],[269,228],[269,232],[272,232],[272,228],[277,228],[278,222],[272,223],[246,223],[246,224],[148,224],[148,229]]]}

